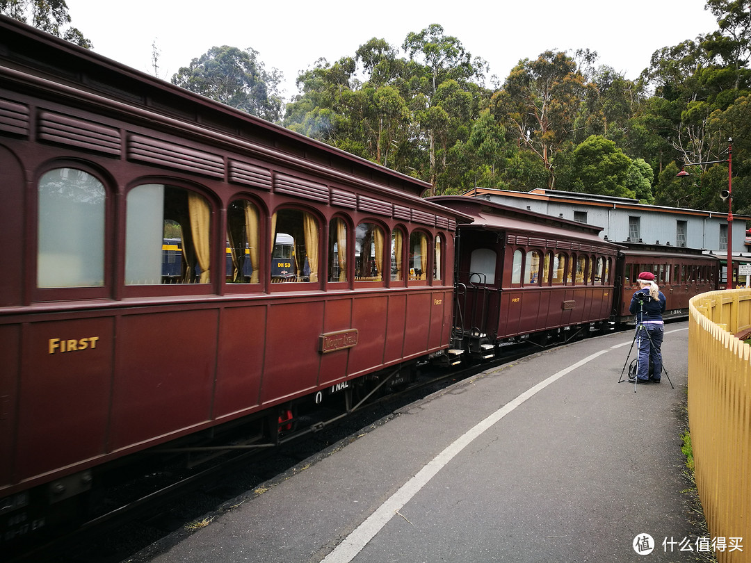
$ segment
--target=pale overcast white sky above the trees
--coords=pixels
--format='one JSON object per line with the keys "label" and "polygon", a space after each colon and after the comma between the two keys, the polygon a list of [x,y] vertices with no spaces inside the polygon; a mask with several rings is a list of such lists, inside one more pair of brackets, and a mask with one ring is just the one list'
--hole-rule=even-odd
{"label": "pale overcast white sky above the trees", "polygon": [[155,43],[158,76],[170,80],[211,47],[252,47],[267,70],[284,74],[285,98],[297,93],[299,71],[317,59],[354,56],[373,37],[400,47],[409,32],[432,23],[458,38],[472,56],[485,59],[501,82],[520,59],[579,48],[596,51],[600,65],[634,79],[654,51],[717,28],[704,0],[66,2],[72,25],[100,55],[153,74]]}

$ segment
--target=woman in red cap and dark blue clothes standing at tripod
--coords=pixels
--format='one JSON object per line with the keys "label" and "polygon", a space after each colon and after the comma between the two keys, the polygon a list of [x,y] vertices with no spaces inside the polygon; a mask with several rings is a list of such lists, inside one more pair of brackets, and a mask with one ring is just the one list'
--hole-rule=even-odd
{"label": "woman in red cap and dark blue clothes standing at tripod", "polygon": [[[662,336],[665,324],[662,313],[665,312],[665,295],[659,291],[652,272],[641,272],[637,279],[639,291],[631,298],[629,312],[635,315],[639,359],[637,362],[636,382],[659,383],[662,376]],[[650,359],[652,375],[650,377]]]}

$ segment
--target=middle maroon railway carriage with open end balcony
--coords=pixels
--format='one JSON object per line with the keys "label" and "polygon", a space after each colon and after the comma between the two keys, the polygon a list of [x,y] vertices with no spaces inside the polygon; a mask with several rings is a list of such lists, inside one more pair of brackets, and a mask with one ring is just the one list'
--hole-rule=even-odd
{"label": "middle maroon railway carriage with open end balcony", "polygon": [[609,320],[619,247],[599,238],[602,228],[473,197],[430,199],[474,218],[460,225],[456,272],[457,333],[478,337],[473,353]]}

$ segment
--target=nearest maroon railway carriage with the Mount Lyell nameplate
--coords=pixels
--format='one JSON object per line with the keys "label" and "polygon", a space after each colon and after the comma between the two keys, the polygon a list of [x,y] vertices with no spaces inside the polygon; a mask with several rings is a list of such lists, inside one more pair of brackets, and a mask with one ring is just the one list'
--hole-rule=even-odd
{"label": "nearest maroon railway carriage with the Mount Lyell nameplate", "polygon": [[104,462],[448,348],[427,184],[5,17],[0,170],[0,549]]}

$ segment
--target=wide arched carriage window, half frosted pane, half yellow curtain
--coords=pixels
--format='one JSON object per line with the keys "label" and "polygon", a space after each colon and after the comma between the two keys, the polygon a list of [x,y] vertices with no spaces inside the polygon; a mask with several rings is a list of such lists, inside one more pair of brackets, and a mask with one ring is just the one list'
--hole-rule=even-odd
{"label": "wide arched carriage window, half frosted pane, half yellow curtain", "polygon": [[133,188],[127,199],[125,283],[209,283],[210,223],[209,203],[194,191],[163,184]]}

